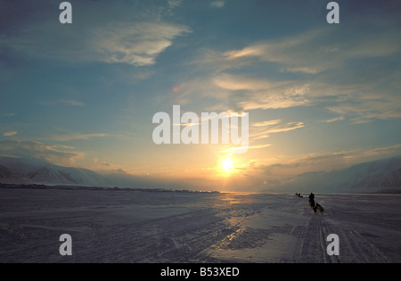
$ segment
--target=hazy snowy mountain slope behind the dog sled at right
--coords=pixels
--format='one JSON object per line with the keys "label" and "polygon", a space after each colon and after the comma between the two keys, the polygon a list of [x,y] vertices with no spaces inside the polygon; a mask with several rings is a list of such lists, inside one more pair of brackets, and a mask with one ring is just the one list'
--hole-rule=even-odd
{"label": "hazy snowy mountain slope behind the dog sled at right", "polygon": [[364,162],[347,169],[300,174],[282,190],[298,192],[401,192],[401,156]]}

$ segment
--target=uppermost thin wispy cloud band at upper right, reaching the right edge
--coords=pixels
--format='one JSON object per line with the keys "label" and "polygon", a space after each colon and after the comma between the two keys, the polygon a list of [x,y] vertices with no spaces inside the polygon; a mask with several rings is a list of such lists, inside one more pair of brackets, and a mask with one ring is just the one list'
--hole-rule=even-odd
{"label": "uppermost thin wispy cloud band at upper right, reaching the right edge", "polygon": [[[333,37],[340,43],[333,41]],[[295,37],[259,42],[223,55],[228,61],[274,62],[282,72],[317,74],[338,68],[349,59],[387,56],[396,54],[400,48],[399,40],[389,33],[348,38],[347,43],[339,40],[341,37],[345,35],[335,29],[311,29]]]}

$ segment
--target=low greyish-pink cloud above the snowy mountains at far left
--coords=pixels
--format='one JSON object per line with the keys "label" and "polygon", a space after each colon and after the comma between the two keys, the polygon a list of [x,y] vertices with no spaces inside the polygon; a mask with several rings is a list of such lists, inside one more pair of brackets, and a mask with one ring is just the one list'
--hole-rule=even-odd
{"label": "low greyish-pink cloud above the snowy mountains at far left", "polygon": [[73,147],[46,145],[32,141],[0,141],[0,153],[3,155],[39,159],[59,165],[73,165],[76,159],[85,155],[85,153],[70,151],[71,149]]}

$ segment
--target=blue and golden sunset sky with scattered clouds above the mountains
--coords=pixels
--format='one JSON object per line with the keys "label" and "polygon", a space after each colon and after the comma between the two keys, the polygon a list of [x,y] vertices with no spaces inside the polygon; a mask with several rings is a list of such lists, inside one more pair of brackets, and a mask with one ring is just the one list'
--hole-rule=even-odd
{"label": "blue and golden sunset sky with scattered clouds above the mountains", "polygon": [[[69,2],[0,0],[0,155],[251,191],[401,154],[401,1]],[[248,151],[155,144],[173,105],[248,113]]]}

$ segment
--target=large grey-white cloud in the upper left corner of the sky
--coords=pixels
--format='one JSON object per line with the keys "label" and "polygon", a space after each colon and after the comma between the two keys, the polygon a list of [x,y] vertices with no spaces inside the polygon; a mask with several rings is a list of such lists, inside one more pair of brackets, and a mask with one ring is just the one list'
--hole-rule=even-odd
{"label": "large grey-white cloud in the upper left corner of the sky", "polygon": [[[163,16],[179,4],[180,1],[170,0],[158,5],[148,4],[146,8],[138,2],[116,7],[100,1],[94,8],[93,3],[82,3],[76,11],[85,17],[62,27],[53,16],[44,16],[46,13],[40,12],[42,16],[39,17],[40,9],[32,8],[31,17],[37,17],[35,24],[25,20],[20,13],[13,13],[14,18],[10,21],[17,24],[10,24],[4,30],[6,36],[0,37],[0,44],[6,50],[27,57],[151,66],[168,46],[173,45],[176,37],[191,32],[183,25],[163,20]],[[119,14],[119,18],[112,14]],[[76,28],[79,32],[74,32]]]}

